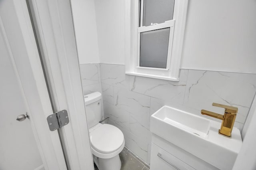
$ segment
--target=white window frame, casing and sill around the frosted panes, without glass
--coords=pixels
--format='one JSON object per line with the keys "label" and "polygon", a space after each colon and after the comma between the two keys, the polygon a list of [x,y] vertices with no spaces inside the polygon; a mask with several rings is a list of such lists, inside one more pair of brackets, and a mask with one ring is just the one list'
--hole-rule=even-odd
{"label": "white window frame, casing and sill around the frosted panes, without glass", "polygon": [[[143,16],[143,8],[140,11],[140,6],[143,7],[143,0],[125,1],[126,74],[179,81],[188,0],[175,0],[173,20],[151,26],[142,26],[143,17],[140,16]],[[140,33],[169,27],[166,69],[140,67]]]}

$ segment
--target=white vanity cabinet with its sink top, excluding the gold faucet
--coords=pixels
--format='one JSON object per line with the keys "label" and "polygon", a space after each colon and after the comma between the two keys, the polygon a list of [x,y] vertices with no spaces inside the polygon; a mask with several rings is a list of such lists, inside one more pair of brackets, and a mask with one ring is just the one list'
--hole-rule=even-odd
{"label": "white vanity cabinet with its sink top, excluding the gold faucet", "polygon": [[236,127],[232,138],[222,136],[220,127],[183,106],[163,106],[150,117],[150,169],[232,170],[242,137]]}

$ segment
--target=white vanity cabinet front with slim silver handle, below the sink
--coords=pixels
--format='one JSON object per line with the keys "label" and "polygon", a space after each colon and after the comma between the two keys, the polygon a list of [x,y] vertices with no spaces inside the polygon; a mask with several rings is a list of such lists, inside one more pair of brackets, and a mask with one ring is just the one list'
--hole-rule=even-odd
{"label": "white vanity cabinet front with slim silver handle, below the sink", "polygon": [[195,170],[157,145],[151,147],[150,170]]}

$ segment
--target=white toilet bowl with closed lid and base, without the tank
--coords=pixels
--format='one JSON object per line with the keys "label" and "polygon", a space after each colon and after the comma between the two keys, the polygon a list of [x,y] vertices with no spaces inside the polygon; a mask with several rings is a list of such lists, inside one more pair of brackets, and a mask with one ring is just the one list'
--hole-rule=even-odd
{"label": "white toilet bowl with closed lid and base, without the tank", "polygon": [[99,170],[120,170],[119,153],[124,148],[120,129],[108,124],[97,124],[89,129],[93,160]]}

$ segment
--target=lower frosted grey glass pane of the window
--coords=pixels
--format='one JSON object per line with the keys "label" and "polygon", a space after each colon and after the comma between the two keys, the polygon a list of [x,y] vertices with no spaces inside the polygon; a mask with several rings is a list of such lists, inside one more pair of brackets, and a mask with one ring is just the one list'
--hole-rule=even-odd
{"label": "lower frosted grey glass pane of the window", "polygon": [[140,33],[140,67],[166,68],[170,28]]}

